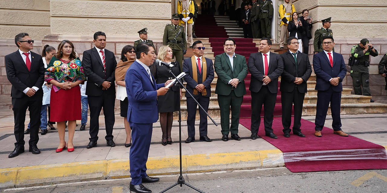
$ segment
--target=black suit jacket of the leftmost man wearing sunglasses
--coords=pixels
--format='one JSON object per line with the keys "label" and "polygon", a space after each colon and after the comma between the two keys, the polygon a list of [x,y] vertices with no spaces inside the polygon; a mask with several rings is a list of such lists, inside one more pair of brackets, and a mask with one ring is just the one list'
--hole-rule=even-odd
{"label": "black suit jacket of the leftmost man wearing sunglasses", "polygon": [[7,78],[12,84],[12,98],[22,98],[27,87],[36,86],[39,88],[35,95],[43,97],[42,85],[44,82],[45,67],[42,56],[31,52],[31,69],[28,71],[19,50],[5,56],[5,71]]}

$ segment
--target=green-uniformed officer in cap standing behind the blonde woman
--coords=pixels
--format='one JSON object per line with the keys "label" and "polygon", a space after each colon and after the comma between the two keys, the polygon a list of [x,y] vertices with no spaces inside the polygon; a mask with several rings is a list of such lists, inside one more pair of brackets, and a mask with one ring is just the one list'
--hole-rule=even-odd
{"label": "green-uniformed officer in cap standing behind the blonde woman", "polygon": [[183,69],[183,56],[187,52],[187,41],[185,39],[185,29],[179,25],[179,14],[172,15],[172,24],[168,24],[164,29],[163,45],[168,45],[172,49],[172,58],[176,56],[176,61]]}

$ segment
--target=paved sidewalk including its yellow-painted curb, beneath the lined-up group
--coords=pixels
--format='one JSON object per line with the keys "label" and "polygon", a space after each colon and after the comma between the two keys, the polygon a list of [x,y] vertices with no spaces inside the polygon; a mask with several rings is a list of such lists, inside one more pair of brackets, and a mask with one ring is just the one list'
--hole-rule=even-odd
{"label": "paved sidewalk including its yellow-painted curb, beneath the lined-up group", "polygon": [[[14,149],[12,112],[0,112],[0,188],[47,185],[51,183],[86,181],[92,179],[127,178],[129,173],[129,150],[124,146],[126,133],[123,118],[116,116],[113,130],[116,147],[106,147],[104,139],[104,117],[100,116],[98,146],[86,149],[89,142],[89,124],[86,130],[76,128],[74,152],[56,153],[58,147],[57,130],[39,134],[40,154],[28,152],[29,135],[25,135],[26,152],[14,158],[8,154]],[[355,137],[387,147],[387,114],[342,115],[342,130]],[[314,121],[314,116],[303,117]],[[216,120],[219,123],[219,120]],[[249,168],[283,167],[282,152],[263,139],[251,140],[250,130],[239,125],[241,141],[221,141],[220,124],[216,127],[208,121],[208,136],[212,142],[199,141],[182,143],[183,173],[200,171],[220,171]],[[28,116],[26,120],[26,128]],[[199,121],[196,122],[199,125]],[[332,119],[327,116],[325,126],[332,128]],[[186,122],[182,122],[182,141],[187,138]],[[199,127],[199,126],[197,126]],[[179,128],[173,122],[172,145],[161,145],[161,127],[154,123],[147,173],[176,174],[179,170]],[[281,135],[282,133],[277,133]],[[67,132],[66,138],[67,139]]]}

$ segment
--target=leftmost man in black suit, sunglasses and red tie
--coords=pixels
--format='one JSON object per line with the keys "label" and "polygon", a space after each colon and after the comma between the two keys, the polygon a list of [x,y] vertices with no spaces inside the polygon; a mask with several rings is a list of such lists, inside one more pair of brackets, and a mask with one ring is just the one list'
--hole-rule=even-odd
{"label": "leftmost man in black suit, sunglasses and red tie", "polygon": [[9,158],[16,157],[24,152],[24,122],[26,111],[29,110],[30,139],[29,151],[39,154],[39,126],[40,110],[43,101],[42,85],[44,82],[44,63],[42,56],[31,52],[34,41],[27,33],[17,34],[15,44],[19,49],[5,56],[5,71],[12,84],[12,110],[14,111],[14,134],[16,138],[15,149]]}

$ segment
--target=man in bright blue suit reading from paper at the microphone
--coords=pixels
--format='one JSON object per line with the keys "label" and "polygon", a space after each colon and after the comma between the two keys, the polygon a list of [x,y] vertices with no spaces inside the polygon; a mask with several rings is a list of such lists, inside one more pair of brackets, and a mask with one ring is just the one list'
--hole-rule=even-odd
{"label": "man in bright blue suit reading from paper at the microphone", "polygon": [[132,129],[133,145],[130,147],[130,190],[136,193],[151,193],[142,183],[153,183],[159,178],[146,174],[146,162],[151,145],[152,125],[159,119],[157,97],[165,95],[169,88],[166,83],[156,84],[149,66],[154,63],[156,54],[152,44],[142,43],[136,47],[137,60],[125,75],[128,95],[128,122]]}

